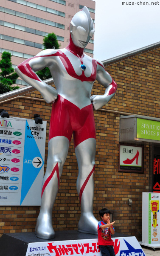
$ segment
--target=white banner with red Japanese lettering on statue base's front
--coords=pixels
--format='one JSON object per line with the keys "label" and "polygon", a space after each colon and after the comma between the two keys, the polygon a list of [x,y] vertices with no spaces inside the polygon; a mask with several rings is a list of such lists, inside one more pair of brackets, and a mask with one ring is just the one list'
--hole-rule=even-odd
{"label": "white banner with red Japanese lettering on statue base's front", "polygon": [[[63,235],[63,231],[62,231]],[[135,236],[112,238],[116,256],[145,256]],[[101,256],[98,239],[29,243],[26,256]]]}

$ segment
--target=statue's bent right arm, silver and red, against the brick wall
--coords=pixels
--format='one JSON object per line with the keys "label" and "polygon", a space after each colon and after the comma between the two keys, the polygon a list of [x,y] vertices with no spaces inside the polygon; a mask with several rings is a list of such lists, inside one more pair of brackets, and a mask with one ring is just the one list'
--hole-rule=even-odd
{"label": "statue's bent right arm, silver and red, against the brick wall", "polygon": [[109,75],[109,73],[105,70],[101,62],[98,62],[97,64],[96,80],[98,81],[98,83],[106,88],[104,95],[93,95],[90,98],[93,104],[93,108],[95,110],[98,110],[106,105],[109,100],[112,99],[112,97],[115,95],[115,92],[117,90],[117,84]]}

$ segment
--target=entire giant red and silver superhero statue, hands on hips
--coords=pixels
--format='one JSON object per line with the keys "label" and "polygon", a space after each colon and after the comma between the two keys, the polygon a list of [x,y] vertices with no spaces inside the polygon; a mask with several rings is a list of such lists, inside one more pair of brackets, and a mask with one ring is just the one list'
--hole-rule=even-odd
{"label": "entire giant red and silver superhero statue, hands on hips", "polygon": [[[52,239],[52,209],[59,189],[70,139],[73,134],[79,166],[77,191],[81,203],[78,230],[97,234],[98,221],[93,215],[95,169],[95,123],[93,108],[98,110],[115,95],[117,84],[103,64],[84,54],[84,47],[93,36],[93,20],[87,7],[74,15],[70,23],[70,42],[64,49],[46,49],[17,66],[18,75],[53,102],[48,143],[48,160],[42,183],[41,209],[36,224],[36,236]],[[36,71],[48,67],[56,90],[39,79]],[[106,90],[104,95],[90,97],[94,81]]]}

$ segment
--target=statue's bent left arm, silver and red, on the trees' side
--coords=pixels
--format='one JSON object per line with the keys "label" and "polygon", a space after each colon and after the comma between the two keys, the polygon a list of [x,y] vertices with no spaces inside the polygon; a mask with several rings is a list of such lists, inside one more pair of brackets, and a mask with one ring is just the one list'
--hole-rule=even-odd
{"label": "statue's bent left arm, silver and red, on the trees' side", "polygon": [[39,52],[35,57],[23,61],[19,64],[15,71],[28,84],[32,85],[38,90],[47,103],[51,103],[57,98],[57,91],[42,81],[37,75],[36,71],[42,70],[45,67],[50,67],[53,64],[53,56],[56,51],[47,49]]}

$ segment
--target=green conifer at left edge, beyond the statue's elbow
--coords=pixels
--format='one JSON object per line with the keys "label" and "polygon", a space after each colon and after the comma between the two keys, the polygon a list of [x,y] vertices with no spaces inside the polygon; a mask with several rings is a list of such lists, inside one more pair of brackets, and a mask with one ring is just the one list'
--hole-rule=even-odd
{"label": "green conifer at left edge, beyond the statue's elbow", "polygon": [[16,72],[14,72],[14,68],[12,67],[10,52],[2,53],[2,59],[0,60],[0,69],[0,81],[3,84],[15,84],[18,75]]}

